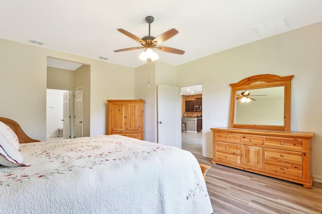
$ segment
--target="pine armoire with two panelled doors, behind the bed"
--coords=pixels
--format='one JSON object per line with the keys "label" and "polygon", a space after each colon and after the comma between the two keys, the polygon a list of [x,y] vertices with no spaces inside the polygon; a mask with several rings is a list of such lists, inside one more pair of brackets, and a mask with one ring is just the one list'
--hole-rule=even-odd
{"label": "pine armoire with two panelled doors, behind the bed", "polygon": [[144,99],[110,100],[107,135],[122,135],[143,140]]}

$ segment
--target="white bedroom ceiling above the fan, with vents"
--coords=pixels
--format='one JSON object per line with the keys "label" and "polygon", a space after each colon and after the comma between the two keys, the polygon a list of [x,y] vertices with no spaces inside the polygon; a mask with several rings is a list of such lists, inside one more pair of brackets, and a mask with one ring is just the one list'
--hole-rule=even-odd
{"label": "white bedroom ceiling above the fan, with vents", "polygon": [[[153,16],[151,35],[176,28],[179,34],[162,45],[186,51],[184,55],[156,51],[159,61],[180,65],[321,22],[321,8],[320,0],[2,0],[0,38],[98,60],[103,56],[111,63],[137,67],[145,63],[138,58],[142,49],[113,52],[140,46],[116,29],[141,38],[148,35],[144,18]],[[262,35],[254,30],[283,17],[286,28]]]}

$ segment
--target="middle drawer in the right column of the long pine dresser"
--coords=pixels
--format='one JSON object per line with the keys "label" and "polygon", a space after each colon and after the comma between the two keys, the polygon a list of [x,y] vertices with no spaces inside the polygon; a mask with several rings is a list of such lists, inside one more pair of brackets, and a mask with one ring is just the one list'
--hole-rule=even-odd
{"label": "middle drawer in the right column of the long pine dresser", "polygon": [[292,152],[286,150],[278,149],[267,149],[264,150],[265,160],[271,161],[283,161],[290,163],[302,164],[302,153],[301,152]]}

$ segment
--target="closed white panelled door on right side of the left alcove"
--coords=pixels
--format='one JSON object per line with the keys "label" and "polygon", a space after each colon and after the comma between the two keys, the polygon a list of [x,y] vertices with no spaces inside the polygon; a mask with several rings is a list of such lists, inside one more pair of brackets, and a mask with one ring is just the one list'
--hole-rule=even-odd
{"label": "closed white panelled door on right side of the left alcove", "polygon": [[74,134],[75,138],[83,137],[83,86],[74,92]]}

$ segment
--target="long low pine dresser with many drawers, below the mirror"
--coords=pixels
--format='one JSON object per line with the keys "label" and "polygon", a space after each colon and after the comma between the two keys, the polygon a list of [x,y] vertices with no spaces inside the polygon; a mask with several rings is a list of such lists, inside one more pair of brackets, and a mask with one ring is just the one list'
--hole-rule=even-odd
{"label": "long low pine dresser with many drawers, below the mirror", "polygon": [[311,138],[314,133],[211,128],[213,159],[250,172],[312,188]]}

